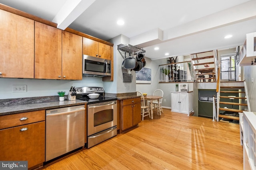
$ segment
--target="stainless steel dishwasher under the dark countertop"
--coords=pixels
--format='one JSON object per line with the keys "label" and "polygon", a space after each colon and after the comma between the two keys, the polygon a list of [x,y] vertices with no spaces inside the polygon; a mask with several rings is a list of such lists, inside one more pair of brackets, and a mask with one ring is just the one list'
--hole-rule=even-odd
{"label": "stainless steel dishwasher under the dark countertop", "polygon": [[84,146],[84,105],[46,110],[45,161]]}

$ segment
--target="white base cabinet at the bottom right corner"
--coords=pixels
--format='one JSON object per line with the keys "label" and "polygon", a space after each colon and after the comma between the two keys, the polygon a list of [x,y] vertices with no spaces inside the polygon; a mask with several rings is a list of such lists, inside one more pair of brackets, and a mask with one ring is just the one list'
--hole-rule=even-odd
{"label": "white base cabinet at the bottom right corner", "polygon": [[243,111],[244,170],[256,170],[256,112]]}

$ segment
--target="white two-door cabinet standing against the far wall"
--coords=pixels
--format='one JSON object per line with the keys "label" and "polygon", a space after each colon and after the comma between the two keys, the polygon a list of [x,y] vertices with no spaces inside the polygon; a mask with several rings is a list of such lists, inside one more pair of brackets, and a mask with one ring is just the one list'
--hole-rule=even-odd
{"label": "white two-door cabinet standing against the far wall", "polygon": [[171,92],[172,111],[190,114],[193,111],[193,92]]}

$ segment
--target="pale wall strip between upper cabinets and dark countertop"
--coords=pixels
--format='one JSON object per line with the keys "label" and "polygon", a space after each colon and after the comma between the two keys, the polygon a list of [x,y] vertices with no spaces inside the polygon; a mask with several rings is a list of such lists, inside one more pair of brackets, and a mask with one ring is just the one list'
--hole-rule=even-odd
{"label": "pale wall strip between upper cabinets and dark countertop", "polygon": [[[27,85],[27,92],[12,92],[12,85]],[[28,98],[38,96],[58,96],[57,91],[65,91],[71,86],[103,87],[101,77],[83,76],[82,80],[41,80],[25,78],[0,78],[0,99]]]}

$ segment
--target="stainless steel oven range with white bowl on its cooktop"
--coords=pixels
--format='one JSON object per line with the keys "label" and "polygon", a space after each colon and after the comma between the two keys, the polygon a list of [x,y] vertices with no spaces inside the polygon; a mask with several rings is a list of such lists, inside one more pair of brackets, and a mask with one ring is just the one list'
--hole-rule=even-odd
{"label": "stainless steel oven range with white bowl on its cooktop", "polygon": [[[76,88],[76,92],[76,99],[88,102],[87,148],[116,136],[116,98],[106,97],[102,87],[81,87]],[[88,98],[90,93],[98,93],[100,96],[97,99],[90,99]]]}

